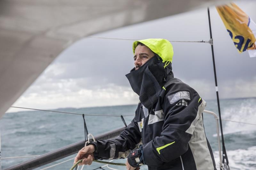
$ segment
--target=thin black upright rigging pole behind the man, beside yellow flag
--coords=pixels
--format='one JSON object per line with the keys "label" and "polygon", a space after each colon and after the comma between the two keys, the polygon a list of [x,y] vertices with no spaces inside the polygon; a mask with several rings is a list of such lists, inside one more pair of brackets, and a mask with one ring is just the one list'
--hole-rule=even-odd
{"label": "thin black upright rigging pole behind the man, beside yellow flag", "polygon": [[[209,7],[207,8],[207,11],[208,11],[208,20],[209,20],[209,28],[210,28],[210,38],[211,38],[210,40],[212,41],[212,28],[211,28],[211,19],[210,19]],[[214,70],[215,88],[216,88],[217,104],[218,104],[219,119],[220,119],[220,132],[221,132],[221,142],[222,142],[222,164],[223,164],[223,168],[225,170],[225,169],[229,169],[229,166],[228,166],[228,155],[227,155],[226,148],[225,148],[224,136],[223,136],[223,130],[222,130],[222,122],[221,122],[221,114],[220,114],[219,90],[218,90],[217,76],[216,76],[216,69],[215,69],[213,43],[211,43],[211,47],[212,47],[212,63],[213,63],[213,70]],[[222,169],[222,167],[220,167],[220,170],[221,169]]]}

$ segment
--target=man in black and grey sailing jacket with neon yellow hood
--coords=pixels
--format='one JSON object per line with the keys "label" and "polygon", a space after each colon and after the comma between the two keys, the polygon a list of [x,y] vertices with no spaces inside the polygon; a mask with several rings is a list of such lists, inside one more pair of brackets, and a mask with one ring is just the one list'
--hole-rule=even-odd
{"label": "man in black and grey sailing jacket with neon yellow hood", "polygon": [[[172,44],[164,39],[133,43],[135,67],[126,75],[140,97],[135,117],[119,137],[90,143],[75,162],[126,158],[126,168],[216,170],[205,136],[206,102],[172,73]],[[136,148],[136,145],[140,144]]]}

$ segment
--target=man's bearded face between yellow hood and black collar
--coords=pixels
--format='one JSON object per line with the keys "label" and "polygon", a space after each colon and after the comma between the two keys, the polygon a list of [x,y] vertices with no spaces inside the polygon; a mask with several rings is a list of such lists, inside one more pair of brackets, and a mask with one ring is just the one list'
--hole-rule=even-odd
{"label": "man's bearded face between yellow hood and black collar", "polygon": [[155,54],[147,47],[141,46],[140,44],[135,48],[134,55],[134,65],[135,70],[138,70],[140,66],[148,61],[149,58],[153,57]]}

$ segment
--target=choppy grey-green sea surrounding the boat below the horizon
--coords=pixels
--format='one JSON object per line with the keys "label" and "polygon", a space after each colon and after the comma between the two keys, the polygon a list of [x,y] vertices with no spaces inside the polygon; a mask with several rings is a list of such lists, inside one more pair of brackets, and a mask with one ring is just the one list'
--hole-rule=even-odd
{"label": "choppy grey-green sea surrounding the boat below the horizon", "polygon": [[[206,100],[206,102],[206,110],[218,115],[216,100]],[[136,107],[137,105],[125,105],[56,110],[81,114],[130,115],[135,113]],[[220,107],[222,119],[256,124],[256,98],[220,100]],[[127,124],[132,118],[133,116],[124,117]],[[120,117],[85,116],[85,120],[88,132],[93,136],[124,126]],[[222,121],[222,123],[230,169],[255,170],[256,126],[228,121]],[[84,123],[81,115],[24,109],[21,112],[5,114],[0,120],[0,126],[2,158],[41,155],[84,140]],[[219,165],[216,126],[212,115],[204,113],[204,127],[214,152],[216,165]],[[76,154],[36,169],[42,169],[75,156]],[[4,169],[29,159],[31,158],[2,159],[1,167]],[[125,163],[125,159],[113,162]],[[70,160],[49,169],[69,169],[72,165],[73,160]],[[92,170],[103,165],[93,162],[91,166],[85,166],[84,169]],[[125,166],[110,165],[109,167],[126,169]],[[141,169],[147,169],[147,166],[142,166]]]}

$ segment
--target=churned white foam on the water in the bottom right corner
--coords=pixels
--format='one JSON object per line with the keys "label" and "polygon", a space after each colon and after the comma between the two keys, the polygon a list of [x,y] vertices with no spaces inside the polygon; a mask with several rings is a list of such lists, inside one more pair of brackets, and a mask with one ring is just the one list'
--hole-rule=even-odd
{"label": "churned white foam on the water in the bottom right corner", "polygon": [[[256,146],[245,149],[227,151],[230,169],[255,170],[256,169]],[[219,152],[214,152],[216,166],[220,165]]]}

